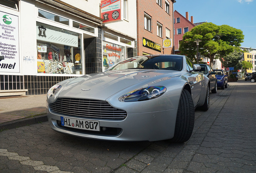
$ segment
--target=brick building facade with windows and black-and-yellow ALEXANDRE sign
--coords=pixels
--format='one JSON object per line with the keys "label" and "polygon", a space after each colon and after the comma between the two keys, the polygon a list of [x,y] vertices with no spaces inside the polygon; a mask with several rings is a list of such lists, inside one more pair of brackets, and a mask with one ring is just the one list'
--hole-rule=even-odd
{"label": "brick building facade with windows and black-and-yellow ALEXANDRE sign", "polygon": [[175,0],[136,0],[137,53],[173,54],[173,3]]}

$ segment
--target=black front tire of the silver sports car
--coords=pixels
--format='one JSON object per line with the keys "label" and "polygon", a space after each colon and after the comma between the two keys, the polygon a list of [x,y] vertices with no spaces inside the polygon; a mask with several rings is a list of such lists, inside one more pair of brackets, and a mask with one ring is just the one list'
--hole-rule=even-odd
{"label": "black front tire of the silver sports car", "polygon": [[172,142],[184,143],[190,139],[194,129],[195,110],[191,94],[184,89],[180,97]]}

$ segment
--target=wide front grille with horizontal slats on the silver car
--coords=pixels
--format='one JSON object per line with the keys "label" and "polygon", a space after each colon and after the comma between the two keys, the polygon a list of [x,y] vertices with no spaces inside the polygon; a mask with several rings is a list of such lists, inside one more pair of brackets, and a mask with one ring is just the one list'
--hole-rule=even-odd
{"label": "wide front grille with horizontal slats on the silver car", "polygon": [[50,104],[51,111],[64,115],[74,115],[101,119],[125,119],[126,111],[111,107],[105,101],[60,98]]}

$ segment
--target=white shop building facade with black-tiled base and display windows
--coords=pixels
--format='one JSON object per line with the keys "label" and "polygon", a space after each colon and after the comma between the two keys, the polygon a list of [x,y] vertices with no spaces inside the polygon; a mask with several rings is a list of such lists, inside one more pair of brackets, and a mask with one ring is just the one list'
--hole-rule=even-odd
{"label": "white shop building facade with black-tiled base and display windows", "polygon": [[57,82],[136,56],[136,2],[115,1],[111,22],[101,18],[101,2],[110,3],[2,0],[0,95],[46,94]]}

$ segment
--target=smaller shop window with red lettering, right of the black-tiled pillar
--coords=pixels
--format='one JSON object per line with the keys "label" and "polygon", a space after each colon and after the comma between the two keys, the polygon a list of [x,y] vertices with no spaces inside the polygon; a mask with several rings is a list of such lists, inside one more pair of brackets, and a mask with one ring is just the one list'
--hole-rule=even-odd
{"label": "smaller shop window with red lettering, right of the black-tiled pillar", "polygon": [[125,59],[125,47],[103,41],[103,70]]}

